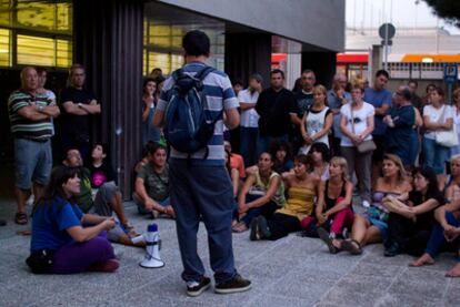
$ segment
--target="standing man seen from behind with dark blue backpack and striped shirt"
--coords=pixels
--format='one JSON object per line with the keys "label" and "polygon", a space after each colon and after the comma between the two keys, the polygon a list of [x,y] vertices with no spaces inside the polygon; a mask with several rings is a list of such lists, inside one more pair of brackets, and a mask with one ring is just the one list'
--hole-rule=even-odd
{"label": "standing man seen from behind with dark blue backpack and striped shirt", "polygon": [[229,78],[204,64],[210,51],[208,35],[190,31],[182,47],[186,65],[166,81],[153,116],[153,124],[164,124],[164,136],[171,145],[170,196],[184,268],[182,279],[189,296],[199,296],[211,285],[197,253],[201,216],[208,231],[214,291],[248,290],[251,282],[234,268],[233,191],[223,150],[223,124],[229,129],[239,125],[239,103]]}

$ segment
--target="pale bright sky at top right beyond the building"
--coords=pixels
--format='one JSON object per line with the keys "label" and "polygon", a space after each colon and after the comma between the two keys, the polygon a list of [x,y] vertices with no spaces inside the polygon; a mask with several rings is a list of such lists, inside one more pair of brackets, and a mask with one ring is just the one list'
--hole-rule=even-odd
{"label": "pale bright sky at top right beyond the building", "polygon": [[423,0],[346,0],[346,20],[348,28],[373,27],[384,22],[404,28],[444,27],[451,34],[460,34],[452,27],[432,13]]}

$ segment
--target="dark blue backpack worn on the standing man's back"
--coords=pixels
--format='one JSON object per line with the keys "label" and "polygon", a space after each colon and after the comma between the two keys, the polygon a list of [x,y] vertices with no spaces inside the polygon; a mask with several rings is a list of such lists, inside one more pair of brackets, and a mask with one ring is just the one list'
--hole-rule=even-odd
{"label": "dark blue backpack worn on the standing man's back", "polygon": [[204,66],[194,76],[186,74],[182,69],[172,73],[174,85],[166,110],[164,137],[174,150],[188,153],[189,156],[206,149],[203,158],[208,157],[208,141],[214,134],[217,121],[207,115],[203,94],[203,79],[216,69]]}

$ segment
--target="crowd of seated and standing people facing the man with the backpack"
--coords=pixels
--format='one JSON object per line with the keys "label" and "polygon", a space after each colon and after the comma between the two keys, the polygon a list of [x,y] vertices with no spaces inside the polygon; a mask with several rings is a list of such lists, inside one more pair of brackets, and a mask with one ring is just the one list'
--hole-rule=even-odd
{"label": "crowd of seated and standing people facing the man with the backpack", "polygon": [[[417,82],[409,81],[392,94],[388,80],[380,70],[364,89],[337,75],[328,91],[306,70],[292,92],[283,88],[281,70],[271,72],[264,90],[260,74],[251,75],[249,88],[237,93],[241,130],[221,133],[232,231],[249,231],[251,241],[298,232],[319,237],[332,254],[360,255],[366,245],[382,243],[384,256],[417,257],[414,267],[450,250],[458,263],[447,275],[459,277],[460,89],[451,106],[441,88],[430,85],[419,98]],[[39,91],[36,69],[24,68],[21,81],[9,112],[18,224],[28,223],[26,201],[36,196],[27,262],[36,273],[113,272],[119,263],[109,241],[133,245],[138,233],[124,213],[108,147],[91,141],[91,116],[101,109],[83,88],[84,69],[71,68],[59,103]],[[176,218],[169,149],[153,125],[163,82],[159,74],[143,84],[144,151],[133,172],[132,198],[141,215]],[[60,113],[63,157],[51,171],[50,139]]]}

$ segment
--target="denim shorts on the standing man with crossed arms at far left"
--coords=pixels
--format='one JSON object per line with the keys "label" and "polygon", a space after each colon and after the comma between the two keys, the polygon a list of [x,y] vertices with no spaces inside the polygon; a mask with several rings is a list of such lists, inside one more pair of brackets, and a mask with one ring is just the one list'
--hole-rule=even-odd
{"label": "denim shorts on the standing man with crossed arms at far left", "polygon": [[51,141],[14,139],[16,186],[29,190],[31,183],[46,185],[51,174]]}

